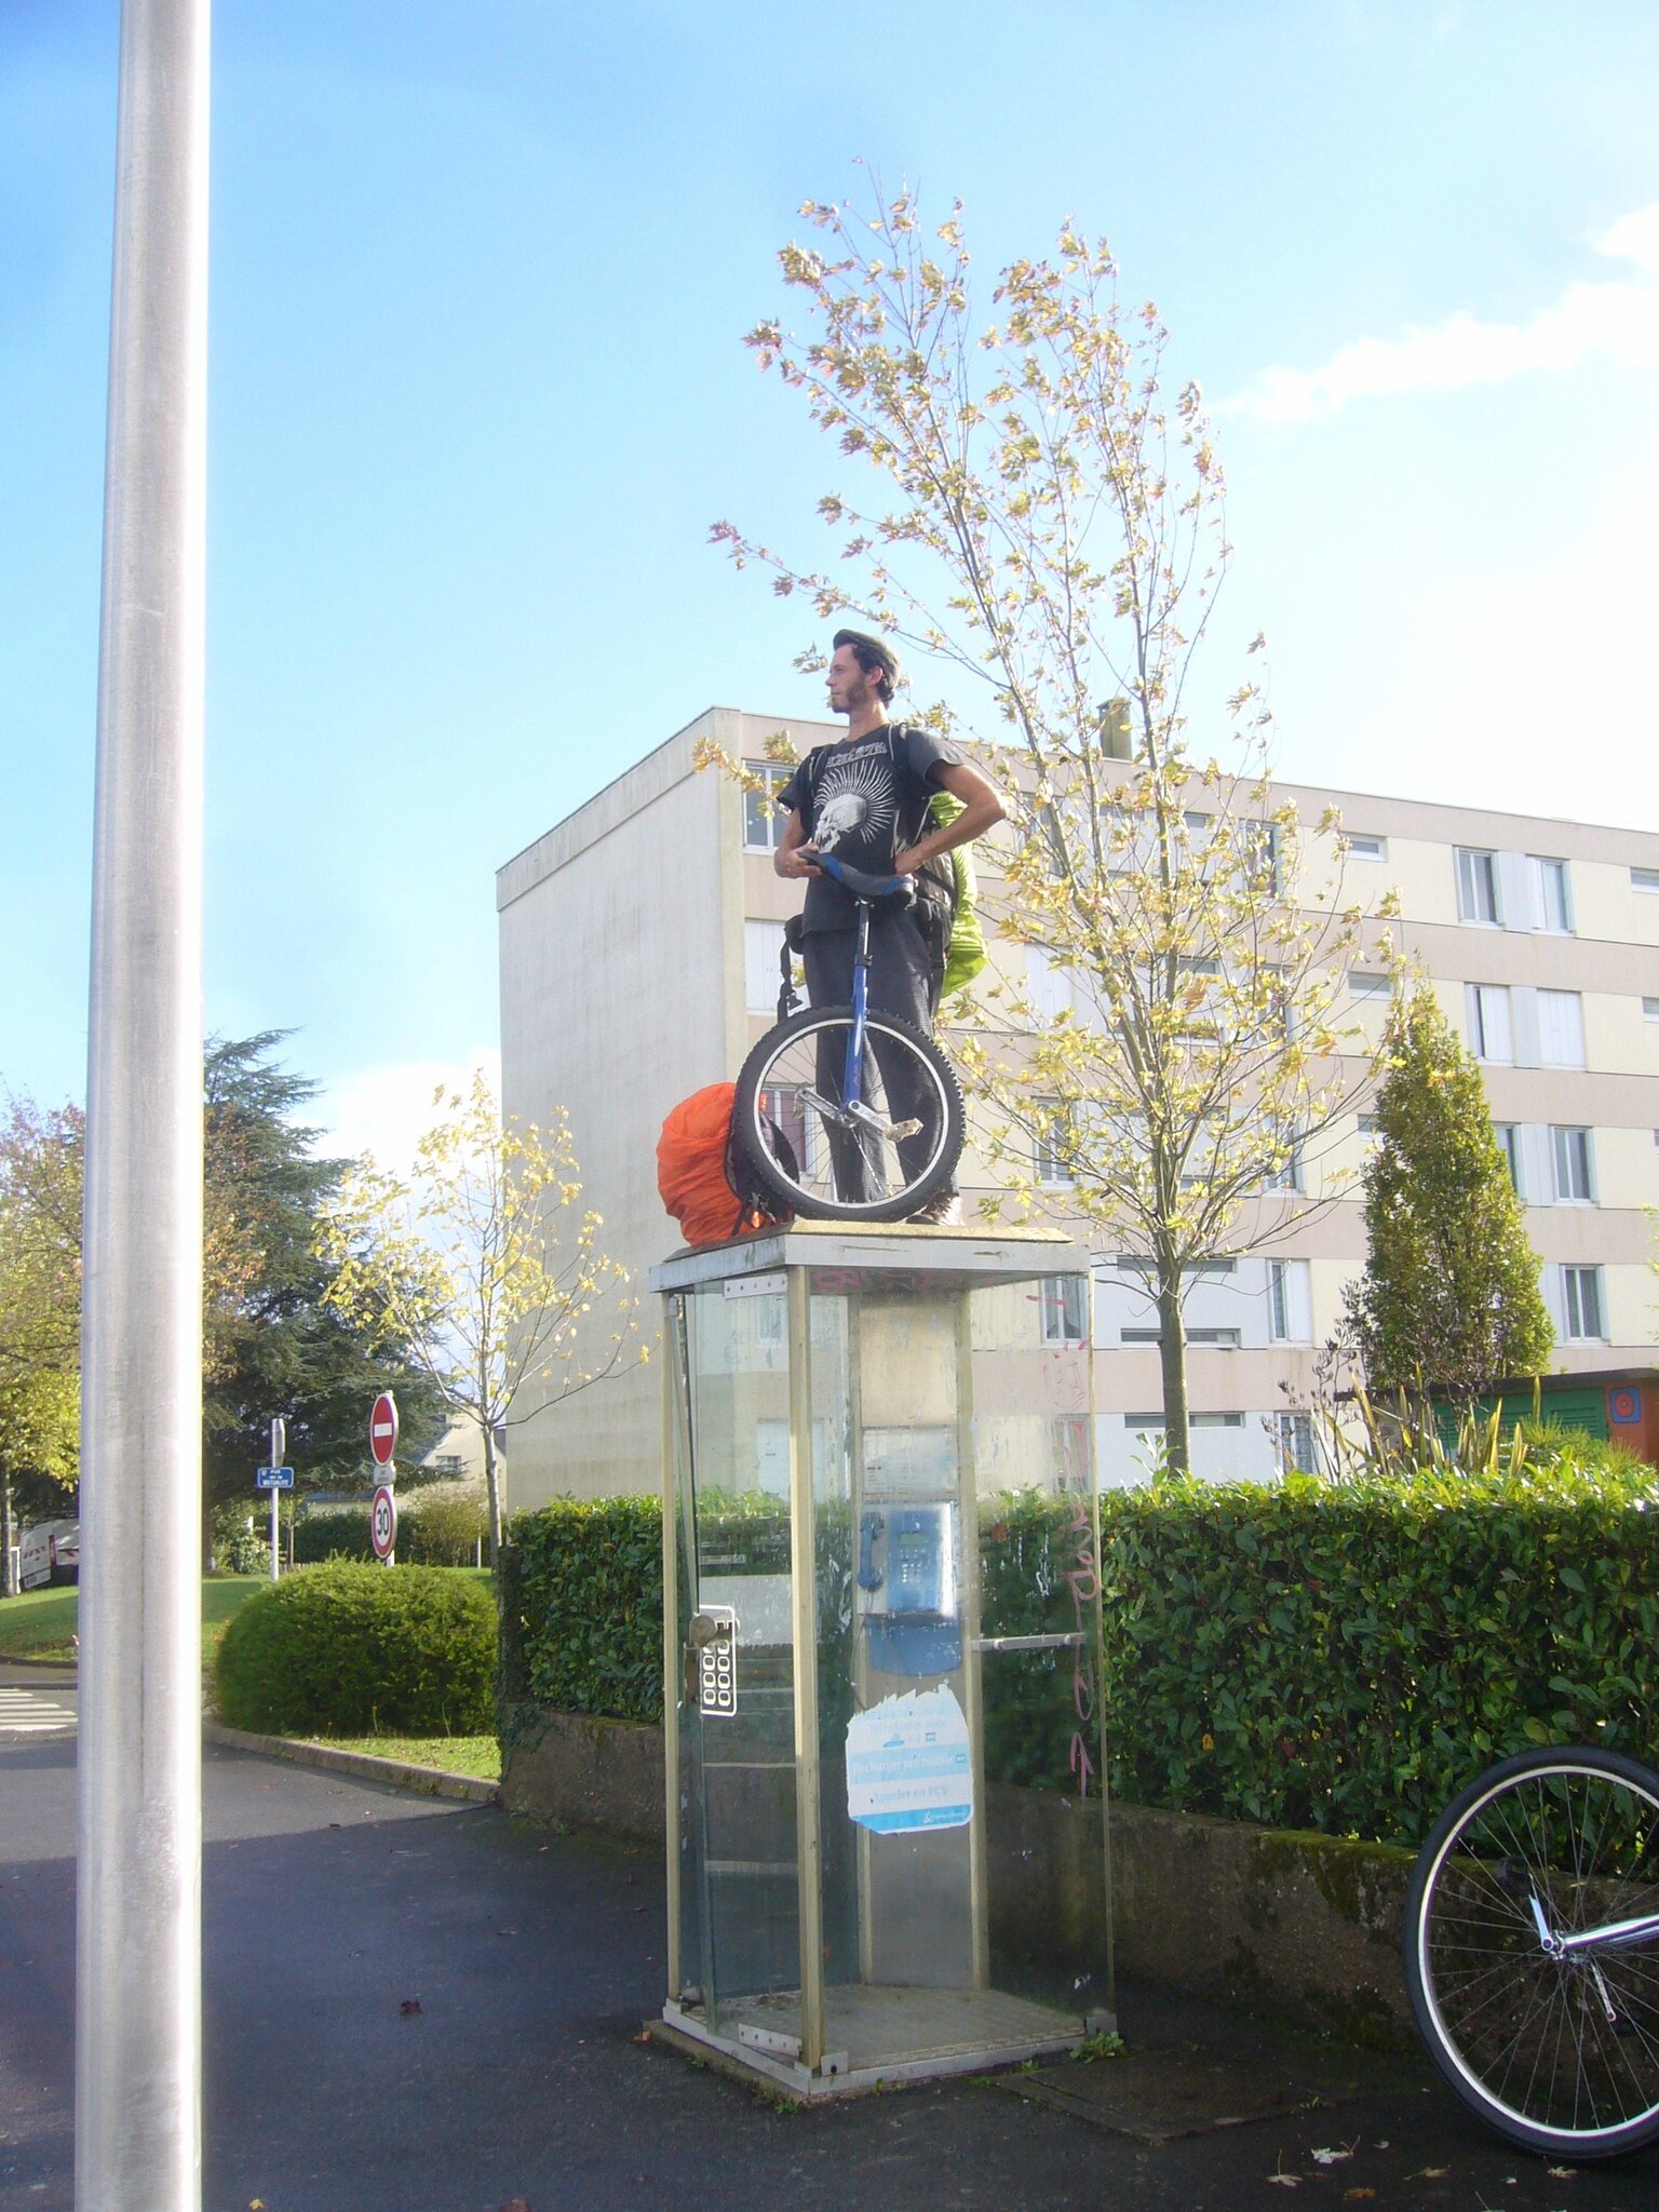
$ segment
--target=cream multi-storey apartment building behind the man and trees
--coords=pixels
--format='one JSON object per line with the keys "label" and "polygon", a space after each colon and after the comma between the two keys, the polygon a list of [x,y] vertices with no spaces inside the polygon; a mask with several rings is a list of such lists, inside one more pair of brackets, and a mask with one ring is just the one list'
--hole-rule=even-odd
{"label": "cream multi-storey apartment building behind the man and trees", "polygon": [[[779,728],[799,752],[841,737],[841,723],[710,708],[498,874],[504,1110],[526,1121],[555,1104],[568,1110],[606,1245],[639,1279],[677,1243],[655,1181],[661,1119],[701,1084],[737,1075],[770,1024],[783,922],[799,902],[772,872],[776,810],[719,770],[699,772],[695,752],[710,741],[776,787],[787,770],[765,768],[765,739]],[[1482,1064],[1542,1259],[1557,1367],[1652,1365],[1659,834],[1310,785],[1276,792],[1303,823],[1340,812],[1347,896],[1374,907],[1383,889],[1398,891],[1405,947]],[[993,914],[993,854],[980,878]],[[1024,947],[993,936],[991,949],[1037,1002],[1053,995],[1057,980]],[[1360,958],[1349,989],[1356,1022],[1376,1033],[1387,975]],[[1310,1464],[1316,1347],[1365,1261],[1367,1124],[1349,1115],[1305,1164],[1298,1197],[1325,1203],[1298,1217],[1292,1199],[1270,1250],[1219,1259],[1192,1285],[1201,1473],[1270,1478]],[[962,1186],[967,1206],[993,1188],[973,1144]],[[1053,1172],[1046,1197],[1055,1221],[1075,1228]],[[1099,1473],[1135,1482],[1161,1431],[1157,1314],[1139,1259],[1084,1237],[1093,1296],[1053,1285],[1033,1298],[1031,1327],[1055,1345],[1093,1338]],[[655,1365],[549,1409],[513,1431],[509,1504],[653,1486],[659,1422]]]}

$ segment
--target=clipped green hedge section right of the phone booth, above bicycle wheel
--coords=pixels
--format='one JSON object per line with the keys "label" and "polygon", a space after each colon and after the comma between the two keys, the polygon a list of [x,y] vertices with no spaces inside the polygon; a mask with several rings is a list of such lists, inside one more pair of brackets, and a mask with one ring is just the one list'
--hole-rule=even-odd
{"label": "clipped green hedge section right of the phone booth, above bicycle wheel", "polygon": [[1102,1500],[1117,1787],[1418,1840],[1528,1743],[1659,1750],[1650,1469]]}

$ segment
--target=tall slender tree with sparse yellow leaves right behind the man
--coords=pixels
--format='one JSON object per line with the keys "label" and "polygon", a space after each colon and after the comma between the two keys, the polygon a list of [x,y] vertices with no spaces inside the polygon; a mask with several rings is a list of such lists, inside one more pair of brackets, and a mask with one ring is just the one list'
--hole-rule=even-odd
{"label": "tall slender tree with sparse yellow leaves right behind the man", "polygon": [[982,998],[962,1062],[1015,1206],[1064,1183],[1146,1267],[1183,1471],[1186,1290],[1318,1203],[1303,1166],[1371,1082],[1347,971],[1391,960],[1387,907],[1345,898],[1336,818],[1310,834],[1274,794],[1259,684],[1217,697],[1219,743],[1194,739],[1225,487],[1201,394],[1166,403],[1164,325],[1119,301],[1108,248],[1066,226],[1053,261],[1000,272],[987,327],[960,206],[931,239],[907,192],[803,217],[812,241],[779,259],[810,327],[748,345],[858,471],[818,502],[838,557],[712,535],[821,619],[982,684],[1018,748],[1002,931],[1033,958]]}

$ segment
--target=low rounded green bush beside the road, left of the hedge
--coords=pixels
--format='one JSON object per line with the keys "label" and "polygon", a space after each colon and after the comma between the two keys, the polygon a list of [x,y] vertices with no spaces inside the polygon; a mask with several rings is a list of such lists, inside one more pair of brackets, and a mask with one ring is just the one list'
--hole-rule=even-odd
{"label": "low rounded green bush beside the road, left of the hedge", "polygon": [[332,1559],[259,1590],[215,1661],[232,1728],[473,1736],[495,1725],[495,1604],[473,1575]]}

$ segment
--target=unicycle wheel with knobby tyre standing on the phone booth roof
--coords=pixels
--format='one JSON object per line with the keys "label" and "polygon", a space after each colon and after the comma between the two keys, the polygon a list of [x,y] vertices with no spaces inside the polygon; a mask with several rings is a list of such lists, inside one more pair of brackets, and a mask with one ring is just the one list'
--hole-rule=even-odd
{"label": "unicycle wheel with knobby tyre standing on the phone booth roof", "polygon": [[807,1006],[754,1046],[732,1128],[765,1188],[812,1221],[902,1221],[962,1155],[962,1086],[945,1053],[891,1013],[865,1018],[858,1104],[843,1106],[852,1006]]}

